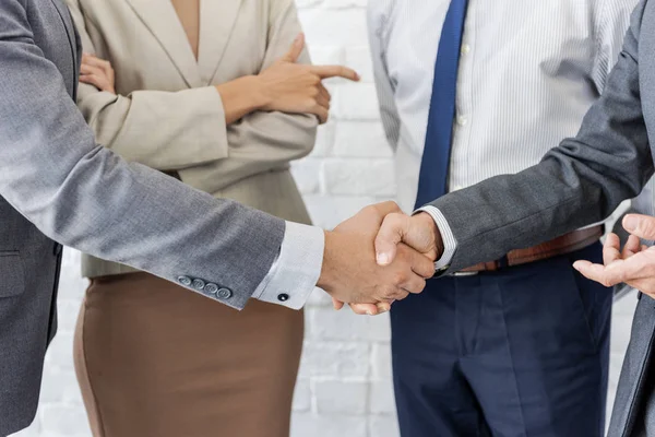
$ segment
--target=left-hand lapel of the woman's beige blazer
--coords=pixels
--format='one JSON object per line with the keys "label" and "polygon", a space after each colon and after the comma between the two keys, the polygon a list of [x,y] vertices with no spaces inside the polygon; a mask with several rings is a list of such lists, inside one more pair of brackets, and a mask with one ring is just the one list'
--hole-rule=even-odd
{"label": "left-hand lapel of the woman's beige blazer", "polygon": [[201,86],[195,57],[172,3],[159,0],[128,0],[128,2],[159,40],[172,63],[184,78],[187,85],[189,87]]}

